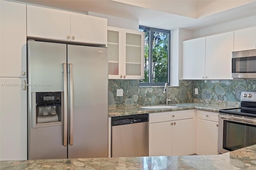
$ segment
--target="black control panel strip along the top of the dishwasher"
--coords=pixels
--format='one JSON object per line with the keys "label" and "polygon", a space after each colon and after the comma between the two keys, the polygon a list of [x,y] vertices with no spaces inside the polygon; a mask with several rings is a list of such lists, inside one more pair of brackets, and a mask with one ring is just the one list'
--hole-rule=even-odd
{"label": "black control panel strip along the top of the dishwasher", "polygon": [[148,122],[148,114],[112,117],[112,126]]}

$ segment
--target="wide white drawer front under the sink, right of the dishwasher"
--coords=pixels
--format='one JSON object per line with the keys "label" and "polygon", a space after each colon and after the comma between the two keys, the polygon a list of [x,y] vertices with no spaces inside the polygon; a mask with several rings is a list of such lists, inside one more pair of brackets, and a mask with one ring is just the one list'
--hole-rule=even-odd
{"label": "wide white drawer front under the sink, right of the dishwasher", "polygon": [[191,119],[194,117],[195,110],[185,110],[185,111],[171,111],[171,112],[161,112],[161,113],[150,113],[149,123],[176,121],[181,119]]}

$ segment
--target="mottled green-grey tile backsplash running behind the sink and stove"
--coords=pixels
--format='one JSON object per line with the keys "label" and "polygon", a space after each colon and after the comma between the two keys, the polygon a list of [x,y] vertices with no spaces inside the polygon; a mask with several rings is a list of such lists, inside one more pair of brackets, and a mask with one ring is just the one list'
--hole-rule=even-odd
{"label": "mottled green-grey tile backsplash running behind the sink and stove", "polygon": [[[139,80],[109,80],[109,106],[140,106],[165,104],[164,87],[138,87]],[[242,91],[256,91],[256,80],[180,80],[179,87],[169,87],[171,103],[211,103],[240,105]],[[198,88],[198,95],[194,89]],[[123,89],[123,96],[116,96],[116,89]]]}

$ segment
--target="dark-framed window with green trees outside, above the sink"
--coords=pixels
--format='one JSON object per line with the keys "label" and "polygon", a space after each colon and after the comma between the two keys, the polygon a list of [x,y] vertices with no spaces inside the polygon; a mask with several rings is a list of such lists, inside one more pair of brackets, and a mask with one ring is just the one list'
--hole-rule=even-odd
{"label": "dark-framed window with green trees outside, above the sink", "polygon": [[140,26],[145,32],[145,79],[140,86],[170,85],[170,30]]}

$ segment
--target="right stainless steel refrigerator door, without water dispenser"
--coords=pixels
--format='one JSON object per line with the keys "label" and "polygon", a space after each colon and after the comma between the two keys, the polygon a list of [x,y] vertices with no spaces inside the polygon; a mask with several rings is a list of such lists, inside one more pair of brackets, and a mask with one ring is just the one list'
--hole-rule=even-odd
{"label": "right stainless steel refrigerator door, without water dispenser", "polygon": [[[74,79],[74,127],[68,132],[73,145],[68,145],[68,158],[108,157],[107,53],[106,48],[68,45],[68,66],[73,66]],[[70,68],[68,72],[70,82]],[[70,105],[68,113],[70,118]]]}

